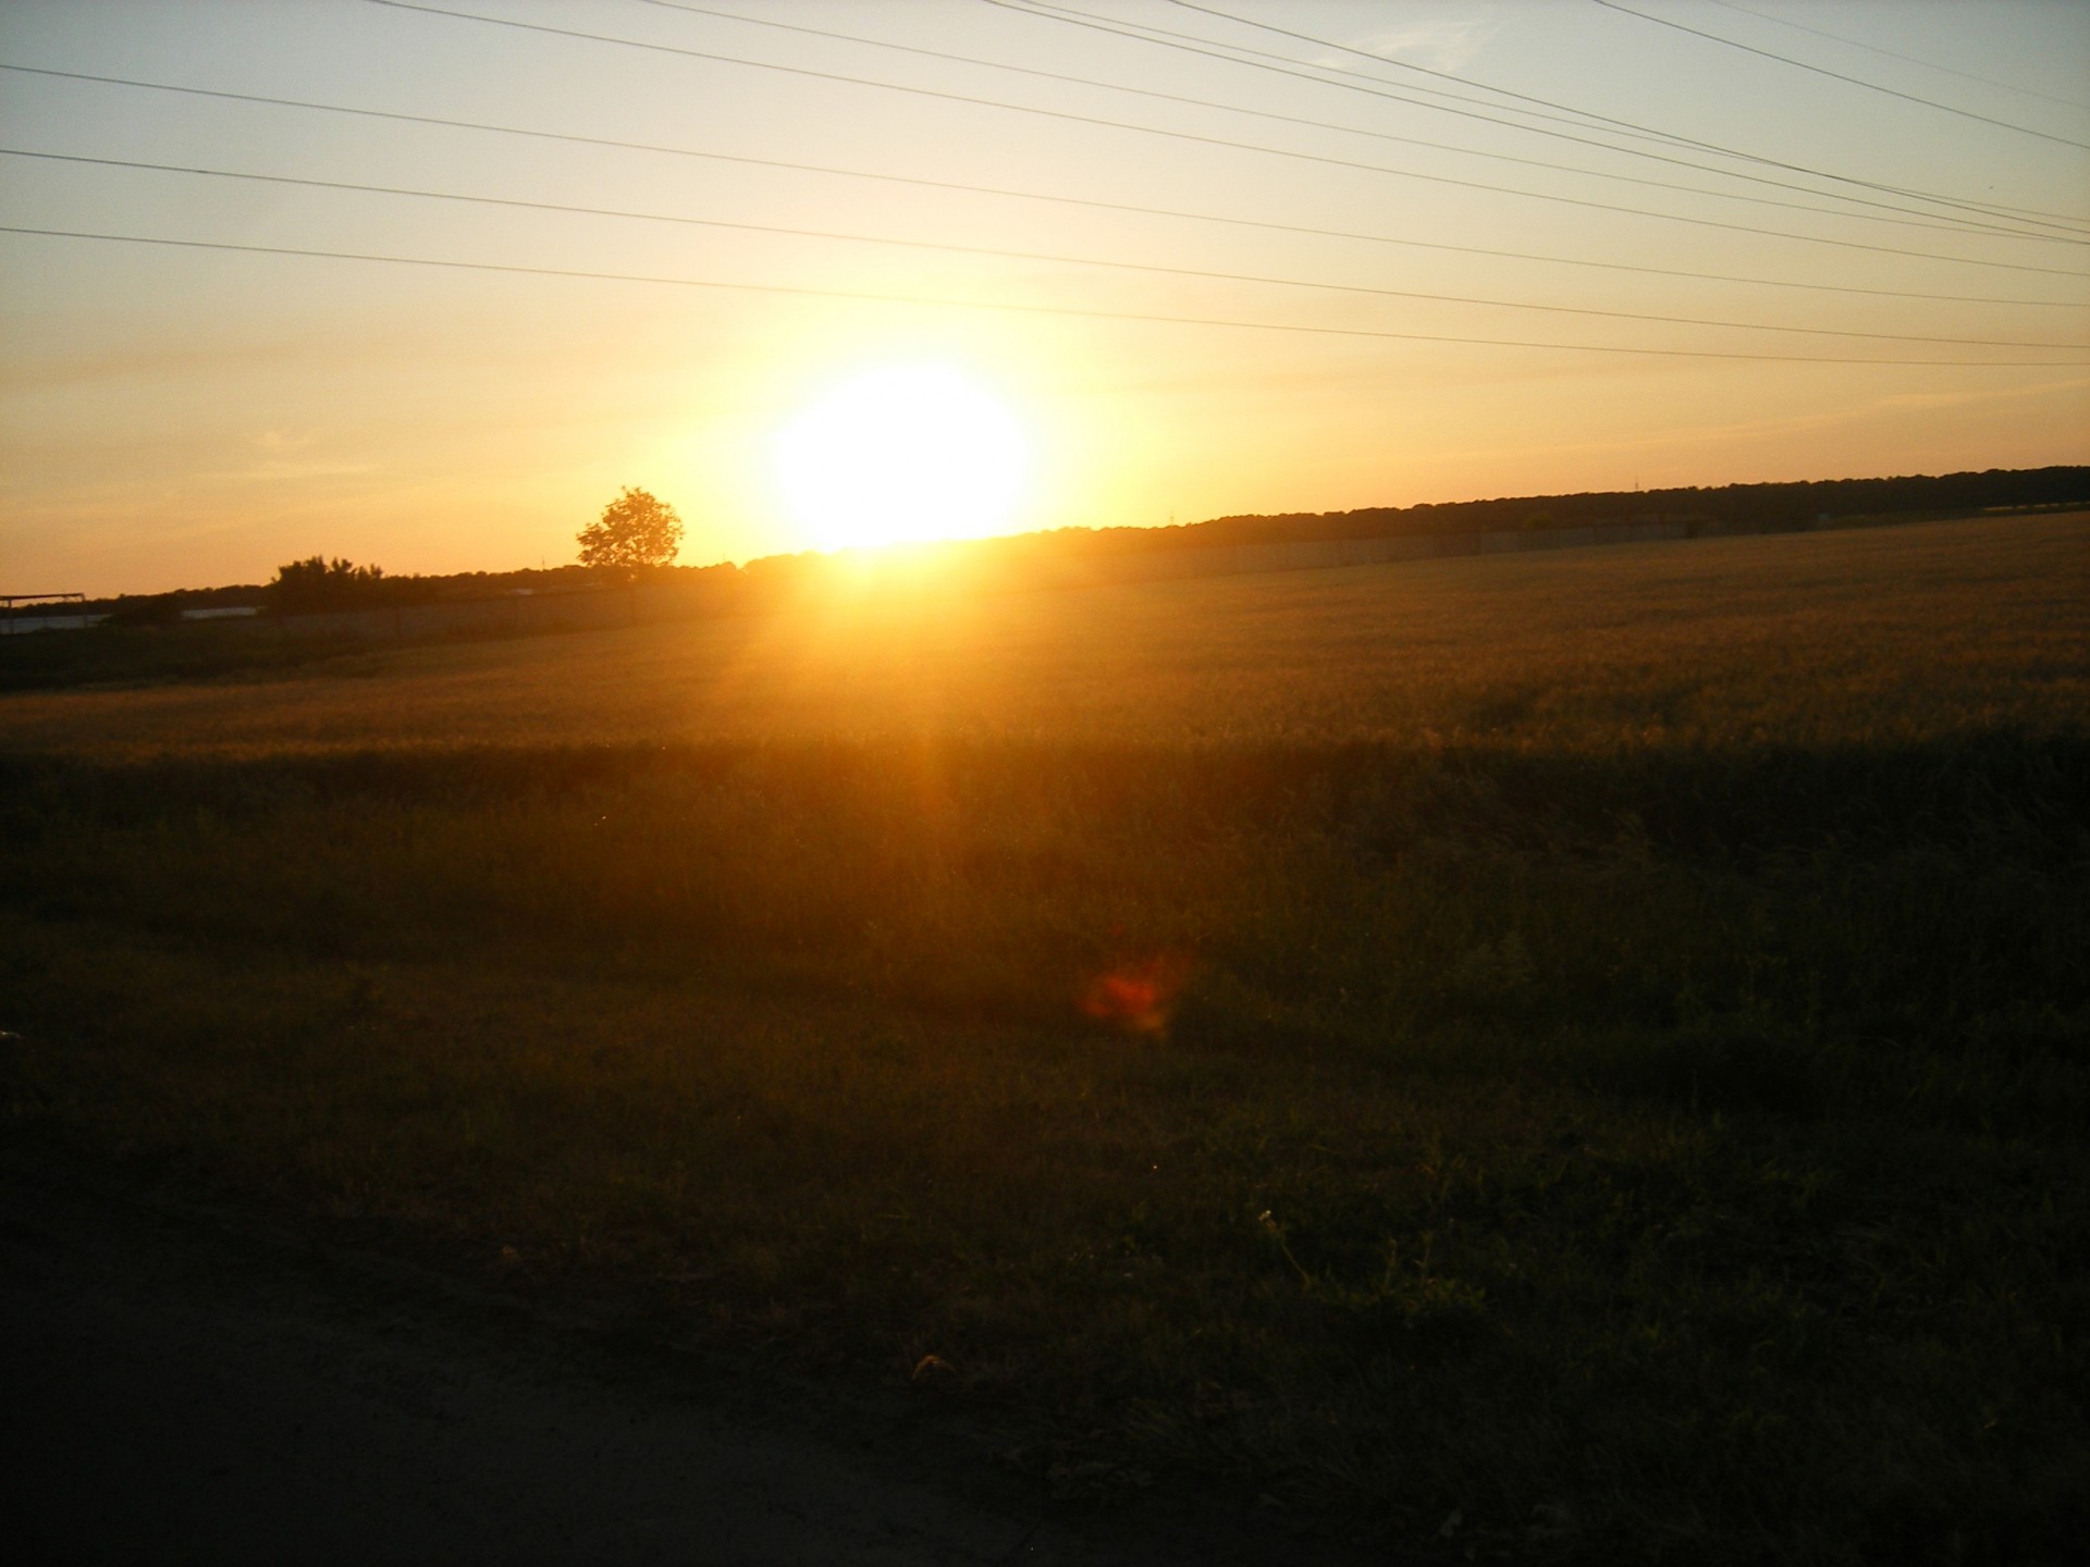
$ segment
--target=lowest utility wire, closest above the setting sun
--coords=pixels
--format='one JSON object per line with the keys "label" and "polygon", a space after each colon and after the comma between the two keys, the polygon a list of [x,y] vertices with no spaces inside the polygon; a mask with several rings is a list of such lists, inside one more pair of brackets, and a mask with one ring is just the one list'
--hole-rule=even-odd
{"label": "lowest utility wire, closest above the setting sun", "polygon": [[31,228],[0,224],[0,234],[33,234],[61,240],[100,240],[109,244],[163,244],[180,251],[230,251],[238,255],[297,255],[324,261],[376,261],[410,267],[441,267],[451,272],[502,272],[525,278],[583,278],[589,282],[642,282],[673,288],[717,288],[746,295],[788,295],[794,299],[846,299],[874,305],[918,305],[934,309],[984,309],[1014,315],[1055,315],[1097,322],[1158,322],[1164,326],[1225,326],[1252,332],[1300,332],[1306,336],[1373,338],[1386,343],[1455,343],[1490,349],[1545,349],[1557,353],[1611,353],[1655,359],[1741,359],[1754,364],[1852,364],[1852,366],[1935,366],[1950,370],[2069,370],[2090,368],[2090,359],[1858,359],[1825,353],[1741,353],[1731,349],[1643,349],[1618,343],[1542,343],[1501,336],[1453,336],[1444,332],[1390,332],[1367,326],[1306,326],[1298,322],[1250,322],[1231,315],[1162,315],[1156,311],[1087,309],[1078,305],[1016,305],[991,299],[940,299],[930,295],[880,295],[859,288],[807,288],[782,282],[721,282],[715,278],[665,278],[640,272],[587,272],[579,267],[531,267],[506,261],[449,261],[420,255],[387,255],[372,251],[320,251],[291,244],[232,244],[228,240],[176,240],[157,234],[100,234],[73,228]]}

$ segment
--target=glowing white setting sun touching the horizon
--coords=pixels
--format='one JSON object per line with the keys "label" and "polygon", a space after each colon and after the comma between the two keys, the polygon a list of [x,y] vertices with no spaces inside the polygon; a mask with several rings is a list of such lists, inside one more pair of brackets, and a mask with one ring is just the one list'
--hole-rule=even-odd
{"label": "glowing white setting sun touching the horizon", "polygon": [[978,539],[1007,527],[1030,445],[1016,416],[951,366],[882,366],[786,424],[775,472],[823,549]]}

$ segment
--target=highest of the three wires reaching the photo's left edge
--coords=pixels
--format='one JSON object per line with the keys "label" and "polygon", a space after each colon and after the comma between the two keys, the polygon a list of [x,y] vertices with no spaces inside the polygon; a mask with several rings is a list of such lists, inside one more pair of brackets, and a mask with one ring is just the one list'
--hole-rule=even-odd
{"label": "highest of the three wires reaching the photo's left edge", "polygon": [[571,134],[571,132],[529,130],[525,125],[497,125],[497,123],[481,121],[481,119],[443,119],[443,117],[437,117],[437,115],[410,115],[410,113],[391,111],[391,109],[357,109],[357,107],[351,107],[351,104],[318,102],[314,98],[274,98],[274,96],[259,94],[259,92],[230,92],[226,88],[190,88],[190,86],[180,86],[180,84],[173,84],[173,81],[144,81],[144,79],[138,79],[138,77],[94,75],[94,73],[88,73],[88,71],[59,71],[59,69],[42,67],[42,65],[13,65],[8,61],[0,61],[0,71],[17,71],[17,73],[23,73],[23,75],[54,77],[54,79],[61,79],[61,81],[92,81],[92,84],[98,84],[98,86],[113,86],[113,88],[142,88],[142,90],[150,90],[150,92],[171,92],[171,94],[186,94],[186,96],[194,96],[194,98],[219,98],[219,100],[228,100],[228,102],[263,104],[263,107],[270,107],[270,109],[305,109],[305,111],[328,113],[328,115],[353,115],[353,117],[359,117],[359,119],[389,119],[389,121],[399,121],[399,123],[405,123],[405,125],[437,125],[441,130],[470,130],[470,132],[485,132],[485,134],[491,134],[491,136],[520,136],[520,138],[529,138],[529,140],[564,142],[564,144],[573,144],[573,146],[602,146],[602,148],[612,148],[612,150],[621,150],[621,153],[656,153],[656,155],[663,155],[663,157],[704,159],[709,163],[740,163],[740,165],[757,167],[757,169],[788,169],[792,173],[819,173],[819,176],[834,176],[834,178],[842,178],[842,180],[869,180],[869,182],[878,182],[878,184],[903,184],[903,186],[915,186],[915,188],[922,188],[922,190],[951,190],[951,192],[961,192],[961,194],[972,194],[972,196],[1001,196],[1001,198],[1009,198],[1009,201],[1037,201],[1037,203],[1051,203],[1051,205],[1060,205],[1060,207],[1087,207],[1091,211],[1135,213],[1135,215],[1141,215],[1141,217],[1170,217],[1170,219],[1183,219],[1183,221],[1195,221],[1195,224],[1223,224],[1227,228],[1252,228],[1252,230],[1264,230],[1264,232],[1275,232],[1275,234],[1300,234],[1300,236],[1308,236],[1308,238],[1358,240],[1358,242],[1365,242],[1365,244],[1394,244],[1394,247],[1402,247],[1402,249],[1444,251],[1444,253],[1453,253],[1453,255],[1484,255],[1484,257],[1492,257],[1492,259],[1501,259],[1501,261],[1536,261],[1540,265],[1559,265],[1559,267],[1595,267],[1595,270],[1601,270],[1601,272],[1630,272],[1630,274],[1655,276],[1655,278],[1685,278],[1685,280],[1691,280],[1691,282],[1731,282],[1731,284],[1743,284],[1743,286],[1751,286],[1751,288],[1802,288],[1802,290],[1808,290],[1808,293],[1858,295],[1858,297],[1866,297],[1866,299],[1921,299],[1921,301],[1944,303],[1944,305],[2013,305],[2013,307],[2034,307],[2034,309],[2084,309],[2086,303],[2090,303],[2090,301],[2080,301],[2080,299],[2006,299],[2006,297],[1996,297],[1996,295],[1937,295],[1937,293],[1923,293],[1923,290],[1910,290],[1910,288],[1864,288],[1864,286],[1856,286],[1856,284],[1835,284],[1835,282],[1799,282],[1799,280],[1793,280],[1793,278],[1751,278],[1751,276],[1745,276],[1745,274],[1731,274],[1731,272],[1689,272],[1689,270],[1682,270],[1682,267],[1651,267],[1651,265],[1641,265],[1641,263],[1634,263],[1634,261],[1590,261],[1590,259],[1584,259],[1584,257],[1570,257],[1570,255],[1545,255],[1542,251],[1494,251],[1494,249],[1486,249],[1486,247],[1478,247],[1478,244],[1450,244],[1450,242],[1444,242],[1444,240],[1413,240],[1413,238],[1394,236],[1394,234],[1367,234],[1367,232],[1354,232],[1354,230],[1342,230],[1342,228],[1313,228],[1313,226],[1306,226],[1306,224],[1279,224],[1279,221],[1260,219],[1260,217],[1229,217],[1225,213],[1198,213],[1198,211],[1185,211],[1185,209],[1177,209],[1177,207],[1145,207],[1145,205],[1139,205],[1139,203],[1097,201],[1093,196],[1062,196],[1062,194],[1051,194],[1051,192],[1045,192],[1045,190],[1014,190],[1009,186],[976,186],[976,184],[961,184],[961,182],[955,182],[955,180],[926,180],[926,178],[907,176],[907,173],[878,173],[874,169],[844,169],[844,167],[834,167],[834,165],[826,165],[826,163],[794,163],[794,161],[788,161],[788,159],[759,159],[759,157],[746,157],[746,155],[738,155],[738,153],[709,153],[709,150],[694,148],[694,146],[667,146],[667,144],[658,144],[658,142],[627,142],[627,140],[617,140],[617,138],[608,138],[608,136],[577,136],[577,134]]}

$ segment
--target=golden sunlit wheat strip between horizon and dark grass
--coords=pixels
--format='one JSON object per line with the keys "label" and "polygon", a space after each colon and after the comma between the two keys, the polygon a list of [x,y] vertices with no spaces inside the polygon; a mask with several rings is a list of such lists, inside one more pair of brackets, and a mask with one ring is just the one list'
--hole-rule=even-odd
{"label": "golden sunlit wheat strip between horizon and dark grass", "polygon": [[374,650],[0,700],[67,754],[809,738],[1618,746],[2057,729],[2090,708],[2090,514],[999,593]]}

